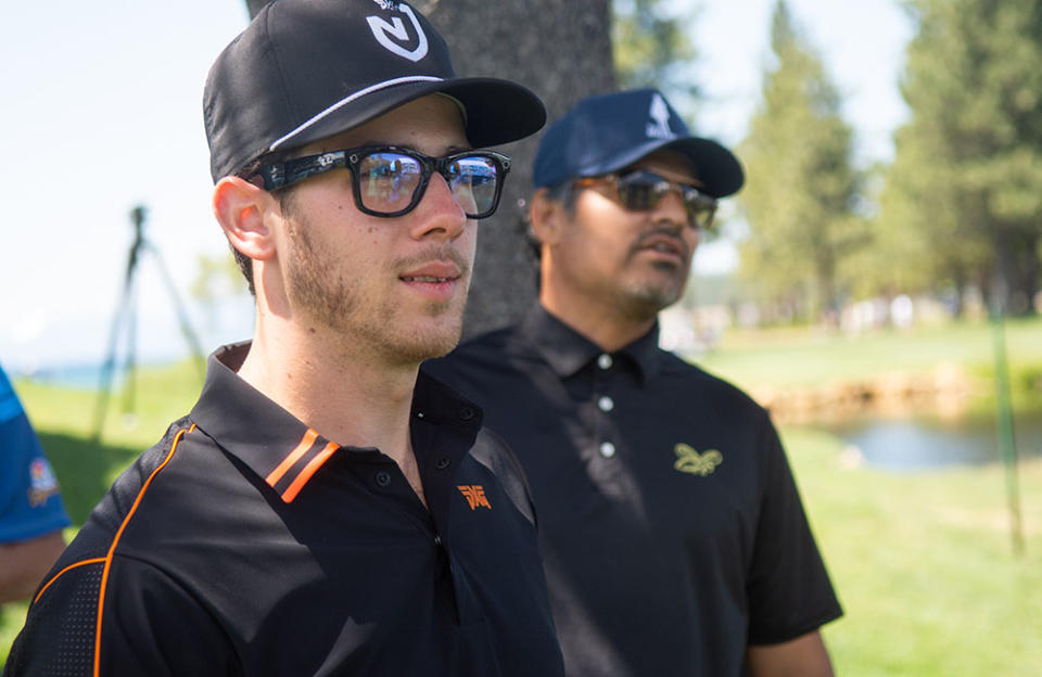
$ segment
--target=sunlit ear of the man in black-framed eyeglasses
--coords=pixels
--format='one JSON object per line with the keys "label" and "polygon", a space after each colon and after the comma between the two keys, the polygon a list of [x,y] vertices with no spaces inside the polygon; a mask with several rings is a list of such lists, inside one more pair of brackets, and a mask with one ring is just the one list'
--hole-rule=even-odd
{"label": "sunlit ear of the man in black-framed eyeglasses", "polygon": [[228,242],[256,260],[275,256],[275,238],[265,214],[277,207],[271,193],[239,177],[225,177],[214,187],[214,216]]}

